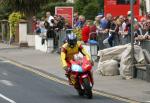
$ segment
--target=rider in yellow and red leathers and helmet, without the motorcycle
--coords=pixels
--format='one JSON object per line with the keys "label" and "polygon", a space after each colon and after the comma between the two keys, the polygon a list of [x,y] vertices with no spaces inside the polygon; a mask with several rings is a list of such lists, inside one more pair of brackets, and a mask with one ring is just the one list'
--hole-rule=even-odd
{"label": "rider in yellow and red leathers and helmet, without the motorcycle", "polygon": [[74,55],[81,52],[89,61],[91,61],[90,55],[83,48],[81,42],[77,41],[77,36],[73,33],[67,35],[67,42],[61,48],[61,61],[63,69],[67,72],[70,68],[70,60],[74,59]]}

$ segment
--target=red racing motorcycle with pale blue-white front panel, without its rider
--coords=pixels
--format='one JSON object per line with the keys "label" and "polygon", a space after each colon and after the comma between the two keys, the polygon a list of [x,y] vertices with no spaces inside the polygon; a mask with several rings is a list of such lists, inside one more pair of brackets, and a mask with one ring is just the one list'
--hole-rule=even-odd
{"label": "red racing motorcycle with pale blue-white front panel, without its rider", "polygon": [[71,60],[71,68],[69,72],[69,80],[71,85],[77,90],[79,96],[86,95],[87,98],[91,99],[92,87],[94,84],[92,77],[92,64],[90,61],[83,57],[80,60]]}

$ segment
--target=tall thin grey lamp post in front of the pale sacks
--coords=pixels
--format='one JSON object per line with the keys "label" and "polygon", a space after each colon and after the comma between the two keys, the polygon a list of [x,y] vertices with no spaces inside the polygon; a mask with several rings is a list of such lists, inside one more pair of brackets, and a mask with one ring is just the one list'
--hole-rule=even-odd
{"label": "tall thin grey lamp post in front of the pale sacks", "polygon": [[132,68],[131,68],[131,73],[132,73],[132,77],[135,78],[136,75],[136,71],[135,71],[135,66],[134,66],[134,10],[133,10],[133,1],[134,0],[130,0],[130,10],[131,10],[131,59],[132,59]]}

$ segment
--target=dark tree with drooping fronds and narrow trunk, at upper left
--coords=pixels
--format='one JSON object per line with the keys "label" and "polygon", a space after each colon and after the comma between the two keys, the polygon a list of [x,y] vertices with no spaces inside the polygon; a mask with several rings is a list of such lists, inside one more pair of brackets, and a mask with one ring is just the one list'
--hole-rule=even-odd
{"label": "dark tree with drooping fronds and narrow trunk, at upper left", "polygon": [[49,0],[0,0],[1,5],[11,6],[12,10],[15,12],[24,13],[27,16],[29,21],[30,33],[31,29],[31,20],[40,7],[46,4]]}

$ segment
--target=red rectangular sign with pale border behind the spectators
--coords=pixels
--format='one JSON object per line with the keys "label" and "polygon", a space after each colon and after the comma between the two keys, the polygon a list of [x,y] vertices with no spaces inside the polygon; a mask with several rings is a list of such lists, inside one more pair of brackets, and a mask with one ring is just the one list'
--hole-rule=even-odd
{"label": "red rectangular sign with pale border behind the spectators", "polygon": [[73,7],[55,7],[55,14],[61,15],[70,27],[73,27]]}

